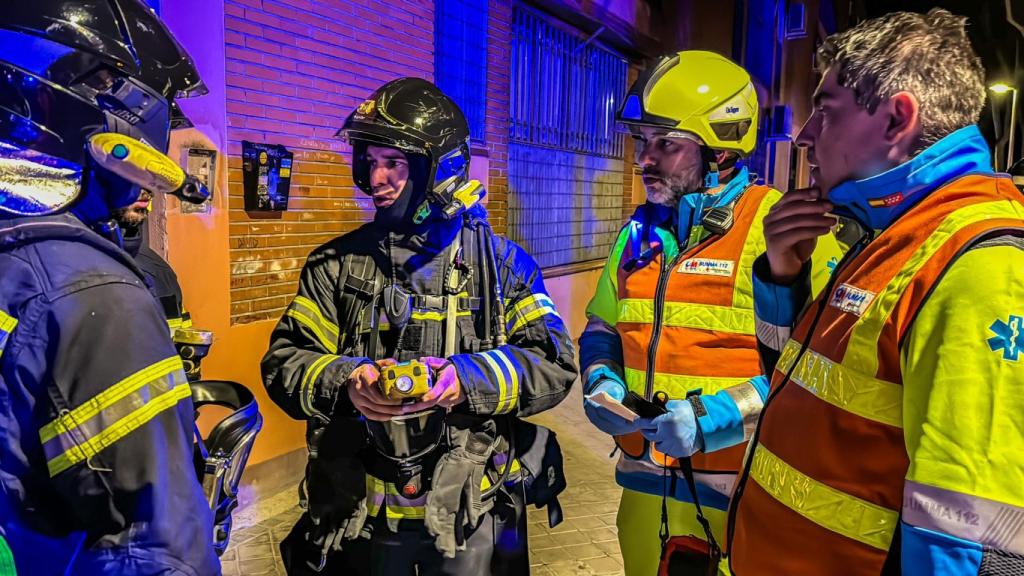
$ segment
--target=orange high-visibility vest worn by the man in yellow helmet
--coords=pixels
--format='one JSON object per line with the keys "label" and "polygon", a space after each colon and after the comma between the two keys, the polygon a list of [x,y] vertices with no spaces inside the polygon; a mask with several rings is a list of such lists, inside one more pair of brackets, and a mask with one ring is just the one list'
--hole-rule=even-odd
{"label": "orange high-visibility vest worn by the man in yellow helmet", "polygon": [[[716,394],[761,373],[751,270],[765,249],[761,222],[778,198],[770,188],[752,186],[736,202],[733,225],[725,235],[681,252],[673,262],[659,254],[632,273],[620,269],[616,328],[631,390],[648,399],[656,392],[683,399],[692,392]],[[634,250],[627,244],[622,261],[636,256]],[[648,370],[651,359],[653,369]],[[698,481],[703,477],[728,494],[744,446],[694,455]],[[620,458],[617,472],[664,474],[648,458],[626,456]],[[712,481],[709,474],[721,476]]]}

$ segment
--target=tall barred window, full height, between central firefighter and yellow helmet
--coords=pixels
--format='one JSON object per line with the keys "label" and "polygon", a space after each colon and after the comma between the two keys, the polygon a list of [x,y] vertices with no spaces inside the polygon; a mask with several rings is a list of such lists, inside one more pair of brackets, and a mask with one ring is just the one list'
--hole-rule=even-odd
{"label": "tall barred window, full height, between central firefighter and yellow helmet", "polygon": [[608,255],[622,225],[629,65],[586,35],[513,11],[508,236],[542,268]]}

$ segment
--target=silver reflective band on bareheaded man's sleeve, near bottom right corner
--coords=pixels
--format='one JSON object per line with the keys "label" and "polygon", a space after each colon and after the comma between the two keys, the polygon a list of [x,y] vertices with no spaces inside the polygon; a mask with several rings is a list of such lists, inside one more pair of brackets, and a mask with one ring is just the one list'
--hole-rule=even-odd
{"label": "silver reflective band on bareheaded man's sleeve, near bottom right corner", "polygon": [[1024,508],[906,481],[903,522],[1024,554]]}

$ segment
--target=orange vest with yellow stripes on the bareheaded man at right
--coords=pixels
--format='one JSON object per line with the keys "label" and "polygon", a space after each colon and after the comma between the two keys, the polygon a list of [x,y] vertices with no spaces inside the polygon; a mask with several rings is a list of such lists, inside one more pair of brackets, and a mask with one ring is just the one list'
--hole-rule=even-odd
{"label": "orange vest with yellow stripes on the bareheaded man at right", "polygon": [[[772,375],[732,502],[734,574],[881,572],[899,528],[909,464],[903,337],[964,249],[1021,229],[1024,196],[1009,178],[963,176],[910,208],[838,272],[830,293],[798,323]],[[819,304],[820,320],[800,355]]]}

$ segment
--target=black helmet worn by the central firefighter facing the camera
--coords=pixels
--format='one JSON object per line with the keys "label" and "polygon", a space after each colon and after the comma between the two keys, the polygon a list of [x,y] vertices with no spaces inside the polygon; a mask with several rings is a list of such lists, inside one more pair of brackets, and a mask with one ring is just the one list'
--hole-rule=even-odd
{"label": "black helmet worn by the central firefighter facing the camera", "polygon": [[337,135],[352,145],[352,179],[366,194],[373,194],[368,145],[404,153],[416,197],[426,194],[439,207],[447,206],[469,178],[466,117],[421,78],[399,78],[378,88],[348,115]]}

